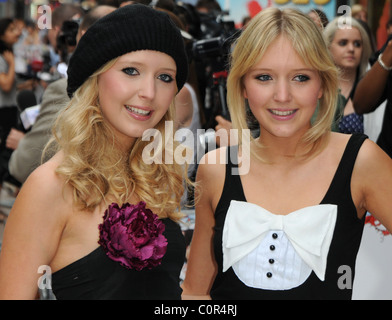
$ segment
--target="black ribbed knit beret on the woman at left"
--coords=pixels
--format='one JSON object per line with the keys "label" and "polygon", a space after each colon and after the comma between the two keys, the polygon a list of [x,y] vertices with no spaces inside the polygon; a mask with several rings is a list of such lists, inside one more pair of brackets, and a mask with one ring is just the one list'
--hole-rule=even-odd
{"label": "black ribbed knit beret on the woman at left", "polygon": [[68,65],[69,97],[110,60],[138,50],[160,51],[177,65],[178,91],[188,76],[180,30],[170,17],[142,4],[130,4],[99,19],[79,40]]}

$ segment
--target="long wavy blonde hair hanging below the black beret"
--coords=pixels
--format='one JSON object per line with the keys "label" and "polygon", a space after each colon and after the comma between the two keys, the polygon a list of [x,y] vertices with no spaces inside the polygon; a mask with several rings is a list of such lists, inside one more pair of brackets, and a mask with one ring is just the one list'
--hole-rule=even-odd
{"label": "long wavy blonde hair hanging below the black beret", "polygon": [[[182,217],[180,200],[190,184],[186,166],[166,164],[164,159],[161,164],[146,164],[142,154],[149,142],[142,138],[128,153],[121,151],[100,110],[98,76],[116,60],[101,67],[75,92],[57,118],[45,151],[63,152],[56,172],[72,187],[74,203],[82,210],[93,211],[101,203],[121,206],[136,195],[160,218],[178,221]],[[174,112],[173,102],[155,127],[163,137],[163,155],[170,152],[165,152],[165,122],[173,119]]]}

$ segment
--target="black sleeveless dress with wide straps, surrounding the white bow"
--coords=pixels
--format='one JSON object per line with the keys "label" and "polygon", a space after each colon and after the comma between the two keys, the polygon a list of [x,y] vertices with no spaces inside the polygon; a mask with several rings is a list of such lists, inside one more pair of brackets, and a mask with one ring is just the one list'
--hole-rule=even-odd
{"label": "black sleeveless dress with wide straps, surrounding the white bow", "polygon": [[[357,154],[366,138],[365,135],[361,134],[352,135],[333,181],[320,204],[337,206],[336,222],[334,223],[334,228],[332,228],[331,242],[326,255],[327,263],[324,280],[320,280],[315,272],[309,269],[306,281],[296,287],[284,290],[270,290],[248,286],[240,280],[233,267],[223,272],[224,250],[222,246],[224,244],[222,238],[224,237],[224,226],[228,210],[232,200],[246,202],[240,176],[231,174],[233,164],[230,163],[231,161],[228,161],[222,196],[215,211],[214,252],[218,265],[218,274],[210,293],[213,299],[351,299],[355,262],[362,239],[365,217],[361,220],[358,219],[357,211],[351,198],[350,183]],[[238,214],[243,213],[241,210],[237,211]],[[245,224],[252,224],[252,221],[246,221]],[[267,247],[265,252],[271,250],[270,253],[275,254],[279,249],[280,242],[277,239],[278,232],[273,230],[271,232],[268,241],[274,245],[271,245],[271,249]],[[246,233],[246,230],[243,233]],[[279,258],[271,259],[268,257],[268,254],[266,253],[262,258],[267,261],[267,265],[270,263],[271,266],[274,265],[276,267],[279,263],[277,261]],[[281,258],[282,260],[285,259],[284,256],[281,256]],[[285,266],[280,266],[280,268],[284,269]],[[245,272],[247,271],[248,269],[245,268]],[[263,272],[260,276],[266,277],[266,279],[270,278],[273,281],[273,272]]]}

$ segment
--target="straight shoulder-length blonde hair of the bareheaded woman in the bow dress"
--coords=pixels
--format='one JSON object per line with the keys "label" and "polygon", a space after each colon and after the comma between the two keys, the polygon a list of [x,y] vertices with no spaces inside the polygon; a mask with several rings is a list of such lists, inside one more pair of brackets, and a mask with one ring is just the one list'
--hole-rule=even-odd
{"label": "straight shoulder-length blonde hair of the bareheaded woman in the bow dress", "polygon": [[[314,156],[321,152],[330,133],[338,97],[338,70],[316,24],[295,9],[263,10],[250,21],[237,39],[227,80],[227,100],[233,127],[239,130],[239,144],[242,145],[242,130],[249,129],[243,79],[280,35],[291,41],[305,64],[317,70],[321,77],[323,96],[319,101],[317,119],[301,141],[309,151],[299,155]],[[251,138],[251,141],[254,139]],[[251,148],[251,155],[265,162],[259,152],[264,148],[263,145],[254,145],[256,147]]]}

